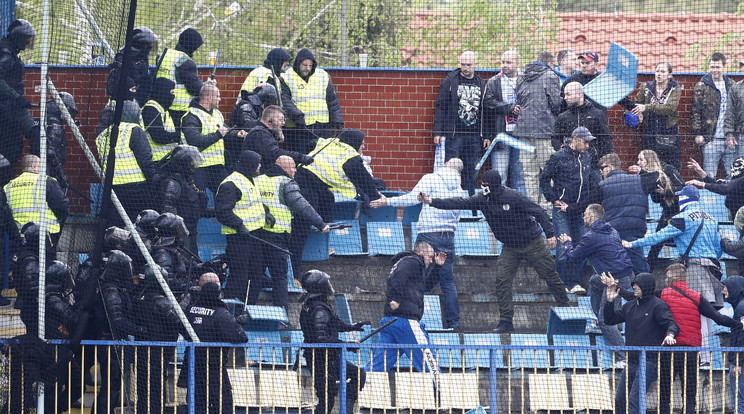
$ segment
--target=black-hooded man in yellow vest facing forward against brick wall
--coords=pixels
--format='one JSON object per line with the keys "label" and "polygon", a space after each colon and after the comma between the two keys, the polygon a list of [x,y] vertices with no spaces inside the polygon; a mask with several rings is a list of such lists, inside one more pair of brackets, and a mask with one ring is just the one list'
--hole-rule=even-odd
{"label": "black-hooded man in yellow vest facing forward against brick wall", "polygon": [[317,137],[330,138],[334,130],[344,127],[341,104],[328,73],[318,67],[313,53],[302,49],[291,69],[282,74],[287,88],[282,88],[284,110],[289,117],[287,144],[292,151],[307,154]]}

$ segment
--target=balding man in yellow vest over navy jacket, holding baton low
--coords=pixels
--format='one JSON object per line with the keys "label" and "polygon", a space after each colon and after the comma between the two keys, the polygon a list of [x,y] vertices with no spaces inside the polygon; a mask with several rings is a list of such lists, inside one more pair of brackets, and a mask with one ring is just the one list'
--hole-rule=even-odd
{"label": "balding man in yellow vest over navy jacket, holding baton low", "polygon": [[[300,187],[294,181],[295,172],[297,167],[294,160],[287,155],[281,155],[277,158],[276,164],[272,163],[263,175],[254,180],[263,204],[274,218],[273,223],[267,222],[263,228],[256,230],[256,236],[281,248],[287,247],[293,215],[302,217],[323,233],[330,231],[313,206],[302,197]],[[263,251],[261,271],[269,269],[274,306],[286,308],[287,255],[268,244],[261,246],[261,249]]]}

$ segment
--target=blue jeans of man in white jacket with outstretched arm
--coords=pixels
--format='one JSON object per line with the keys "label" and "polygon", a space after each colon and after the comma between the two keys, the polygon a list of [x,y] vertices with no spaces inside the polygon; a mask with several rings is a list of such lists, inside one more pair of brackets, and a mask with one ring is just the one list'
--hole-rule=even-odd
{"label": "blue jeans of man in white jacket with outstretched arm", "polygon": [[442,296],[444,296],[444,320],[447,322],[447,327],[455,328],[460,325],[460,303],[457,301],[457,286],[455,286],[453,273],[456,257],[455,233],[419,233],[416,236],[416,243],[420,241],[429,243],[434,248],[434,253],[447,253],[447,260],[439,270],[439,286],[441,286]]}

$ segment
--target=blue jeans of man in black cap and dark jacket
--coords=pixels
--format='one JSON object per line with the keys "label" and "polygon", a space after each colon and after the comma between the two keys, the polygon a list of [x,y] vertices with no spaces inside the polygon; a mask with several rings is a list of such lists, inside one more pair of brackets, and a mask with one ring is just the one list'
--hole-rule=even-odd
{"label": "blue jeans of man in black cap and dark jacket", "polygon": [[[561,234],[568,234],[571,240],[578,244],[581,236],[586,233],[584,219],[581,214],[568,214],[553,207],[553,230],[557,238]],[[561,277],[567,288],[571,289],[581,283],[584,277],[584,267],[586,260],[581,263],[571,263],[569,266],[568,257],[566,257],[566,248],[560,241],[555,248],[555,267],[558,270],[558,276]]]}

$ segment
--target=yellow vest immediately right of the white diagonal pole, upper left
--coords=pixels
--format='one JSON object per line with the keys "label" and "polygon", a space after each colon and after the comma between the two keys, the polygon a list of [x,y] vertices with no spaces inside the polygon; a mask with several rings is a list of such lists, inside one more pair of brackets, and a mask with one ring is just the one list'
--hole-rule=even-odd
{"label": "yellow vest immediately right of the white diagonal pole, upper left", "polygon": [[[106,128],[96,138],[96,147],[98,149],[98,158],[101,161],[101,169],[106,171],[106,159],[108,158],[109,142],[111,129],[114,126]],[[113,185],[132,184],[146,181],[145,174],[137,163],[134,152],[129,148],[132,138],[132,130],[141,128],[139,124],[132,122],[122,122],[119,124],[119,139],[116,141],[116,161],[114,162],[114,183]]]}

